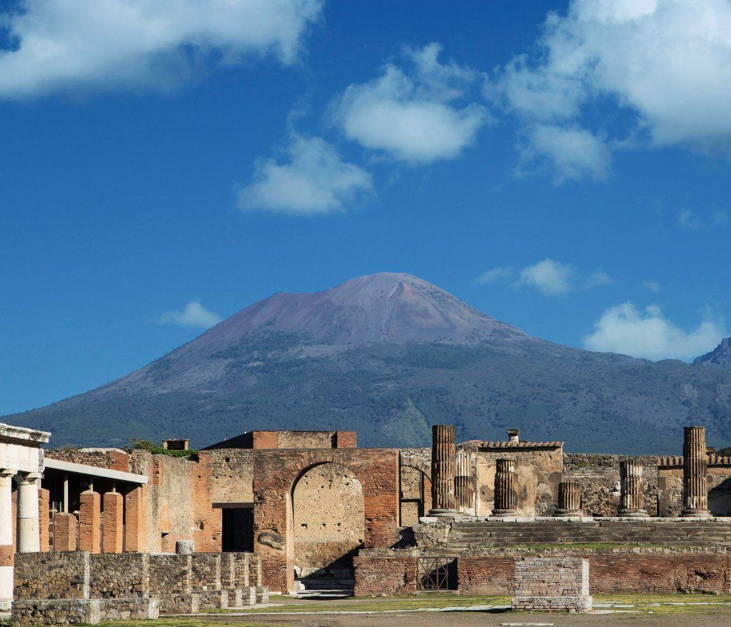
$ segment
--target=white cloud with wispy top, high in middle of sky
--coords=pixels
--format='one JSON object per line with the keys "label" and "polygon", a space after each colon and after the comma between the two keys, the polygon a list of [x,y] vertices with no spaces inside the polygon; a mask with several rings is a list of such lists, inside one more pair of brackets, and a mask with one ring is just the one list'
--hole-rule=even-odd
{"label": "white cloud with wispy top, high in middle of sky", "polygon": [[464,102],[480,75],[440,63],[440,50],[436,43],[409,50],[410,72],[388,64],[379,78],[349,86],[333,104],[333,121],[347,138],[393,159],[458,157],[485,124],[487,110]]}

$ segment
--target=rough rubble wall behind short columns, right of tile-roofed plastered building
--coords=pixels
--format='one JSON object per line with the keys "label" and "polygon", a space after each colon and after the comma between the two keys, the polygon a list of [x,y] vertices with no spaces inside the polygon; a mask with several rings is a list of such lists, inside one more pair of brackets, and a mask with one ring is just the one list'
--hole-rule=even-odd
{"label": "rough rubble wall behind short columns, right of tile-roofed plastered building", "polygon": [[[586,516],[616,516],[619,507],[619,462],[626,455],[578,454],[564,455],[564,480],[581,485],[581,504]],[[644,466],[645,509],[657,515],[657,461],[654,456],[634,457]]]}

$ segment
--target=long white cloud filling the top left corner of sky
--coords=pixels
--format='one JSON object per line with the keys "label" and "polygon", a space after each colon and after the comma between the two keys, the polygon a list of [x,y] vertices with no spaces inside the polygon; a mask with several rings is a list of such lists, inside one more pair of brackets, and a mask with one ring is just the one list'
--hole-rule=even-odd
{"label": "long white cloud filling the top left corner of sky", "polygon": [[323,0],[26,0],[0,12],[0,97],[75,86],[164,86],[245,53],[297,59]]}

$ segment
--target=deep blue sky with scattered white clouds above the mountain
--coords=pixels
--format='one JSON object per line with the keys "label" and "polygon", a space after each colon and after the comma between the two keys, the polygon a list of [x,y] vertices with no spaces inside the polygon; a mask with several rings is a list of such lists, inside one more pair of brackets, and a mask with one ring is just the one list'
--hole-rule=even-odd
{"label": "deep blue sky with scattered white clouds above the mountain", "polygon": [[729,0],[0,7],[0,414],[376,271],[594,350],[727,334]]}

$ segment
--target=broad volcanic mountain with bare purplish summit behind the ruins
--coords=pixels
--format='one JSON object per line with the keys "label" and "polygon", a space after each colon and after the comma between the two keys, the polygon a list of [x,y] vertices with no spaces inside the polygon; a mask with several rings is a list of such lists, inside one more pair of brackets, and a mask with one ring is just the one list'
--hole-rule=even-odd
{"label": "broad volcanic mountain with bare purplish summit behind the ruins", "polygon": [[363,446],[424,446],[451,422],[461,440],[519,427],[572,451],[677,454],[684,424],[731,441],[731,369],[553,344],[384,273],[276,293],[121,379],[2,420],[56,445],[356,429]]}

